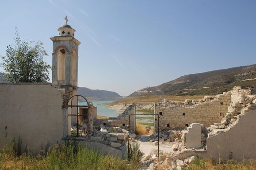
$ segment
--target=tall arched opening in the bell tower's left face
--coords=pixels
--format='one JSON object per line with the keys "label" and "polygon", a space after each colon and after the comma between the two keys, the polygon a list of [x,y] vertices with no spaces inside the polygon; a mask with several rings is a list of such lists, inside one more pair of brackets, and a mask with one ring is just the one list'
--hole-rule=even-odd
{"label": "tall arched opening in the bell tower's left face", "polygon": [[65,50],[60,49],[57,57],[57,77],[59,81],[63,81],[65,80]]}

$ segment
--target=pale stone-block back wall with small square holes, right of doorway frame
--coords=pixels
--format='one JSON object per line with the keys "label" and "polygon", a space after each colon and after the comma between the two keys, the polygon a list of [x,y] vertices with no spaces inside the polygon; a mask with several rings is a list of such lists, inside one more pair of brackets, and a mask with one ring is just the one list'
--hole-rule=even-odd
{"label": "pale stone-block back wall with small square holes, right of doorway frame", "polygon": [[228,110],[230,93],[219,94],[215,98],[205,96],[202,100],[171,102],[162,100],[156,103],[156,114],[160,114],[160,127],[179,128],[191,123],[210,126],[219,122]]}

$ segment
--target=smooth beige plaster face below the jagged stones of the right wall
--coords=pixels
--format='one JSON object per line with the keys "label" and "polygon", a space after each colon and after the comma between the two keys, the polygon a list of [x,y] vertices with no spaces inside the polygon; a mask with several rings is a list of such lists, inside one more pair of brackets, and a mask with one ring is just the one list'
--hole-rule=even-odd
{"label": "smooth beige plaster face below the jagged stones of the right wall", "polygon": [[256,159],[256,109],[242,115],[234,127],[226,132],[207,138],[206,151],[186,150],[176,158],[184,159],[191,155],[214,160]]}

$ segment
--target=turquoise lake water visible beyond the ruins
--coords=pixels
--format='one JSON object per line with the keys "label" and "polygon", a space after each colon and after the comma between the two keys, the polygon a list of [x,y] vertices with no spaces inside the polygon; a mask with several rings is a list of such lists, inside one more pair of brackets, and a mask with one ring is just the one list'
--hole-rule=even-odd
{"label": "turquoise lake water visible beyond the ruins", "polygon": [[[93,101],[93,105],[97,106],[97,115],[98,116],[107,116],[107,117],[118,117],[119,113],[116,110],[106,108],[103,103],[110,103],[112,101]],[[79,102],[79,105],[86,104],[86,102]],[[87,104],[86,104],[87,105]]]}

